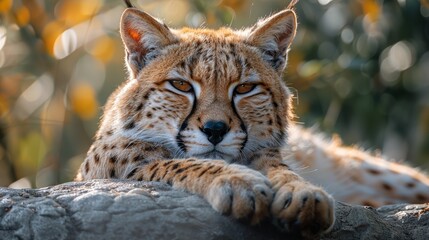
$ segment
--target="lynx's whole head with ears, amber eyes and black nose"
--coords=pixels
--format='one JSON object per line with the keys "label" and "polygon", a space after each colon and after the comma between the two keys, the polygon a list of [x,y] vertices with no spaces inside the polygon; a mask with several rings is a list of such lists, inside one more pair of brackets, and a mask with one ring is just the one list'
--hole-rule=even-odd
{"label": "lynx's whole head with ears, amber eyes and black nose", "polygon": [[239,31],[174,30],[126,9],[130,78],[114,96],[114,123],[175,157],[239,161],[282,146],[291,111],[282,72],[296,22],[287,8]]}

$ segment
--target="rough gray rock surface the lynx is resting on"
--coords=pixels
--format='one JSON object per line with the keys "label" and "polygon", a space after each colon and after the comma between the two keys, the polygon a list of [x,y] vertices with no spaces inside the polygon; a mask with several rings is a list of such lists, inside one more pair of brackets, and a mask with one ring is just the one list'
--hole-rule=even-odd
{"label": "rough gray rock surface the lynx is resting on", "polygon": [[[337,204],[322,239],[429,239],[429,204],[379,209]],[[250,227],[162,183],[94,180],[41,189],[0,188],[0,239],[290,239]]]}

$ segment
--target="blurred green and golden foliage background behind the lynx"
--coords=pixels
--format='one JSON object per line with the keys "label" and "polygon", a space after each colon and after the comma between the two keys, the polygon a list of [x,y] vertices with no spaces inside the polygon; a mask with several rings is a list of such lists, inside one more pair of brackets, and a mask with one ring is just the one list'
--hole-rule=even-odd
{"label": "blurred green and golden foliage background behind the lynx", "polygon": [[[251,26],[288,0],[134,0],[169,26]],[[0,0],[0,186],[70,181],[125,78],[120,0]],[[305,0],[297,119],[429,169],[429,0]],[[12,184],[12,185],[11,185]]]}

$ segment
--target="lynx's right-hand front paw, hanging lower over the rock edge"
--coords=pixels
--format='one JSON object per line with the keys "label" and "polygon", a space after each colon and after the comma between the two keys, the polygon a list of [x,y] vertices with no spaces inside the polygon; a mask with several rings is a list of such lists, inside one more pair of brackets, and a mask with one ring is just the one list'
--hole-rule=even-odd
{"label": "lynx's right-hand front paw, hanging lower over the rock edge", "polygon": [[302,181],[282,185],[271,205],[282,230],[305,238],[328,232],[335,221],[334,199],[321,188]]}

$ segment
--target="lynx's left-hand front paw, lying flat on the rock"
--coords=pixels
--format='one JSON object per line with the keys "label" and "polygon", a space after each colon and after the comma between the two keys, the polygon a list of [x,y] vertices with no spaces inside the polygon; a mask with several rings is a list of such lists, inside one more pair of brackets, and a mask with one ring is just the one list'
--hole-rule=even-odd
{"label": "lynx's left-hand front paw, lying flat on the rock", "polygon": [[236,168],[238,171],[216,177],[206,198],[222,214],[257,224],[270,214],[274,192],[261,173],[241,166]]}

